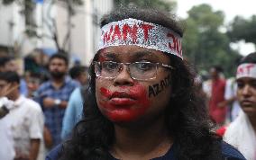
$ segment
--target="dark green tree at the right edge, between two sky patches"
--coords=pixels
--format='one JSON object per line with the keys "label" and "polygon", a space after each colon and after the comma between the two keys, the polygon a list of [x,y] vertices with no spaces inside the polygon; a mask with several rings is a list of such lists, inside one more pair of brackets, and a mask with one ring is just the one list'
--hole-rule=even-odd
{"label": "dark green tree at the right edge, between two sky patches", "polygon": [[228,35],[233,41],[245,40],[256,44],[256,15],[252,15],[249,19],[236,16],[231,23]]}

